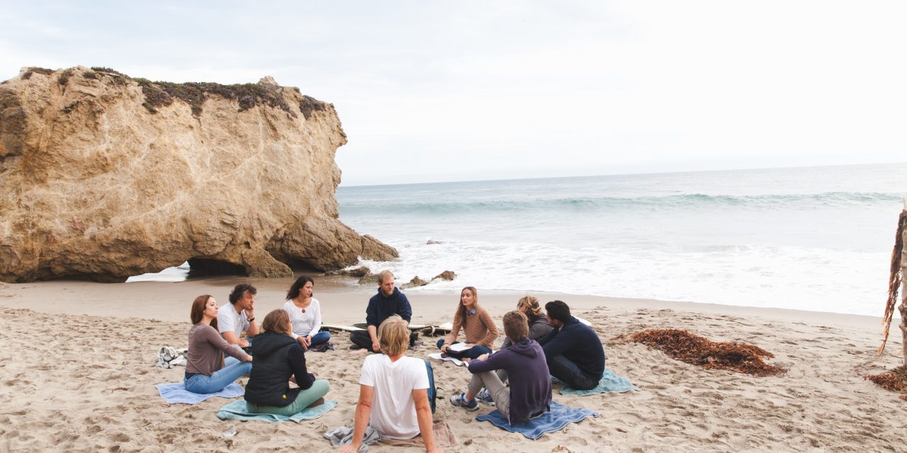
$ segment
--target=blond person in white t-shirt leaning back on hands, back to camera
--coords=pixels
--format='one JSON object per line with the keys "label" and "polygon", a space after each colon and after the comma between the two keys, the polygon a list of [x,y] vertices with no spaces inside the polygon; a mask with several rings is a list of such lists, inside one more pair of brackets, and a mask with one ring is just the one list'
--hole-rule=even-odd
{"label": "blond person in white t-shirt leaning back on hands, back to camera", "polygon": [[441,451],[434,446],[432,429],[432,367],[427,361],[404,355],[409,342],[407,325],[393,315],[378,327],[380,347],[376,349],[382,353],[366,357],[362,364],[352,444],[341,451],[359,451],[366,427],[388,439],[413,439],[421,433],[425,451]]}

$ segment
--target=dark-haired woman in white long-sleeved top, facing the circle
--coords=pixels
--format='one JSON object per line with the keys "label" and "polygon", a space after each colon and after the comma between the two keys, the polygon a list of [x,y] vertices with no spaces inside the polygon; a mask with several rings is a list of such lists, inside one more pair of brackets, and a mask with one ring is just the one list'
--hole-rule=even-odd
{"label": "dark-haired woman in white long-sleeved top, facing the circle", "polygon": [[283,308],[289,314],[289,322],[293,326],[292,336],[302,349],[325,352],[334,348],[328,342],[331,333],[318,332],[321,330],[321,304],[312,297],[313,286],[315,281],[311,277],[301,275],[296,279],[296,283],[289,287],[287,302]]}

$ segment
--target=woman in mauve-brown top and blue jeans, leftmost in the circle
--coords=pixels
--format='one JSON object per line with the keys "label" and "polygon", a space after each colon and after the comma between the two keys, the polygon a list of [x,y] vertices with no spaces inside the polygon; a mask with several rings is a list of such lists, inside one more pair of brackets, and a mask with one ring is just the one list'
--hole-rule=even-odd
{"label": "woman in mauve-brown top and blue jeans, leftmost in the circle", "polygon": [[[189,352],[186,352],[186,390],[192,393],[215,393],[239,376],[249,374],[252,358],[220,337],[218,303],[208,294],[192,301],[189,313]],[[224,354],[229,355],[224,359]]]}

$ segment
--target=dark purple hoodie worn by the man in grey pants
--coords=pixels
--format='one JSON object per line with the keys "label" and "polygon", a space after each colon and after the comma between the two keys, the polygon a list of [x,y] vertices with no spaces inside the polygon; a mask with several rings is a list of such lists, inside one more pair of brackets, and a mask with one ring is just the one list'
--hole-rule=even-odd
{"label": "dark purple hoodie worn by the man in grey pants", "polygon": [[469,372],[506,370],[511,384],[510,424],[520,422],[551,406],[551,376],[541,346],[524,338],[494,352],[484,361],[472,361]]}

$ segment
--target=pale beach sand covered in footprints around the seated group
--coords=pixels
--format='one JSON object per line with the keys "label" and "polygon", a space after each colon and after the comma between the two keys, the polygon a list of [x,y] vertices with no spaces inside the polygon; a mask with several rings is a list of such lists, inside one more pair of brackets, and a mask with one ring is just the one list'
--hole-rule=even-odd
{"label": "pale beach sand covered in footprints around the seated group", "polygon": [[[0,451],[330,451],[322,434],[349,425],[366,352],[308,353],[310,371],[331,382],[325,416],[296,423],[221,421],[229,400],[196,405],[165,403],[154,384],[182,379],[182,367],[154,366],[163,345],[184,347],[189,307],[199,294],[223,305],[233,284],[259,288],[256,315],[284,302],[290,279],[219,277],[180,283],[95,284],[57,281],[0,284],[0,333],[8,356],[0,368]],[[372,287],[345,277],[317,277],[316,297],[325,322],[364,321]],[[407,292],[414,323],[452,321],[458,294]],[[561,299],[594,325],[608,367],[641,391],[554,400],[595,410],[538,440],[475,420],[477,412],[438,400],[458,444],[446,451],[897,451],[904,448],[907,401],[863,375],[901,364],[900,331],[883,356],[880,318],[712,304],[671,303],[570,294],[495,293],[480,288],[483,304],[499,320],[524,294]],[[880,301],[880,312],[882,310]],[[651,328],[688,329],[713,341],[756,344],[788,371],[756,378],[703,370],[636,343],[612,340]],[[409,355],[434,352],[430,339]],[[500,342],[500,340],[499,340]],[[435,362],[436,385],[447,395],[465,388],[469,372]],[[246,378],[240,380],[244,384]],[[221,433],[236,428],[238,434]],[[378,445],[370,451],[396,451]],[[424,451],[405,448],[405,451]]]}

